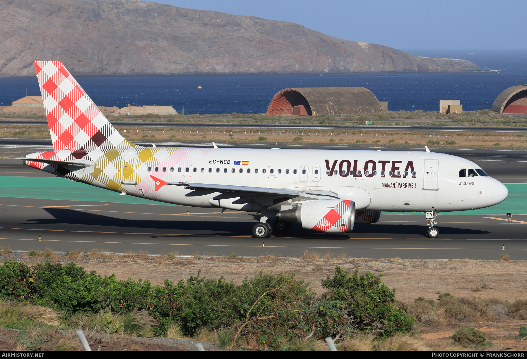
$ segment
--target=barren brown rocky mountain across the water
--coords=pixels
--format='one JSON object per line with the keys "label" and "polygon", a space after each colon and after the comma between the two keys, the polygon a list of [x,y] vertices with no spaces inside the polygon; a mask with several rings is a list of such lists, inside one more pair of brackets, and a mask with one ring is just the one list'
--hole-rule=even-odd
{"label": "barren brown rocky mountain across the water", "polygon": [[0,76],[34,75],[34,59],[82,75],[480,70],[298,24],[141,0],[4,0],[0,29]]}

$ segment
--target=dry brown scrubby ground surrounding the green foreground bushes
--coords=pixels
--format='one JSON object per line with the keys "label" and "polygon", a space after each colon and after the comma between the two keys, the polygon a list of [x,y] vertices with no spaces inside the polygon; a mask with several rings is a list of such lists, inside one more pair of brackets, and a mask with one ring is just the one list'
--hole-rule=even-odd
{"label": "dry brown scrubby ground surrounding the green foreground bushes", "polygon": [[[465,347],[491,348],[490,345],[492,350],[527,348],[525,341],[519,339],[521,326],[527,324],[527,281],[521,275],[527,269],[527,262],[511,261],[508,255],[502,255],[497,261],[419,261],[401,258],[370,260],[332,252],[308,251],[299,258],[274,255],[240,257],[236,253],[223,256],[192,253],[183,256],[180,252],[160,253],[159,256],[134,252],[115,255],[97,248],[91,251],[79,248],[66,255],[58,255],[49,248],[33,251],[31,256],[26,253],[19,260],[28,264],[39,263],[46,258],[52,261],[56,255],[56,263],[76,261],[87,271],[93,270],[103,276],[114,274],[118,280],[142,278],[152,284],[162,284],[165,278],[173,282],[180,279],[188,281],[198,271],[202,276],[225,277],[238,284],[245,277],[256,276],[260,271],[294,272],[299,280],[310,281],[310,287],[317,295],[326,291],[320,280],[326,275],[333,275],[337,265],[349,271],[356,269],[359,274],[382,273],[383,282],[390,288],[396,288],[394,308],[415,318],[412,331],[387,338],[360,332],[344,337],[337,334],[339,350],[462,350]],[[147,317],[140,312],[112,316],[102,311],[71,317],[62,325],[71,328],[81,326],[93,332],[150,336],[149,328],[155,323],[145,322]],[[130,325],[125,323],[134,321],[140,325],[136,327],[138,329],[130,330]],[[219,343],[224,347],[232,343],[236,334],[232,330],[202,327],[189,335],[181,323],[168,325],[164,333],[163,336],[168,338],[193,338]],[[260,347],[250,342],[245,345],[247,348]],[[320,340],[311,341],[309,345],[298,341],[280,345],[282,350],[327,350],[326,343]]]}

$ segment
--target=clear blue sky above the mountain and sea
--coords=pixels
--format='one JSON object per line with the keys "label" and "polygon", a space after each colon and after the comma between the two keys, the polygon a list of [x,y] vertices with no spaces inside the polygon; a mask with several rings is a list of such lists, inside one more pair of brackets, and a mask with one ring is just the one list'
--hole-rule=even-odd
{"label": "clear blue sky above the mountain and sea", "polygon": [[157,0],[288,21],[357,42],[407,49],[527,49],[527,1]]}

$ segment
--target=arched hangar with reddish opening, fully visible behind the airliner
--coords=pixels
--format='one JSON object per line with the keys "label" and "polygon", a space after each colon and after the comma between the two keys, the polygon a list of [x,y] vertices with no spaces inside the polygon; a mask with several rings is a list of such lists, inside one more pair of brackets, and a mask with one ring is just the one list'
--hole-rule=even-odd
{"label": "arched hangar with reddish opening, fully visible behind the airliner", "polygon": [[284,88],[271,99],[268,115],[355,115],[382,113],[373,92],[364,87]]}

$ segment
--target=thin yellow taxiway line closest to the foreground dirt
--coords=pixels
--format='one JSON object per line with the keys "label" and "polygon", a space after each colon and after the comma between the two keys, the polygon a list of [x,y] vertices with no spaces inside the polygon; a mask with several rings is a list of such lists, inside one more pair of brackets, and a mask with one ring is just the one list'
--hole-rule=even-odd
{"label": "thin yellow taxiway line closest to the foreground dirt", "polygon": [[[25,238],[0,238],[0,240],[12,241],[36,241]],[[108,244],[157,244],[173,246],[216,246],[216,247],[257,247],[260,245],[237,245],[237,244],[181,244],[181,243],[141,243],[141,242],[100,242],[100,241],[66,241],[66,240],[42,240],[42,242],[74,242],[74,243],[108,243]],[[266,247],[267,248],[267,247]],[[501,248],[399,248],[399,247],[313,247],[313,246],[269,246],[269,248],[318,248],[318,249],[337,249],[337,250],[479,250],[479,251],[501,251]],[[527,251],[527,248],[509,248],[508,251]]]}

